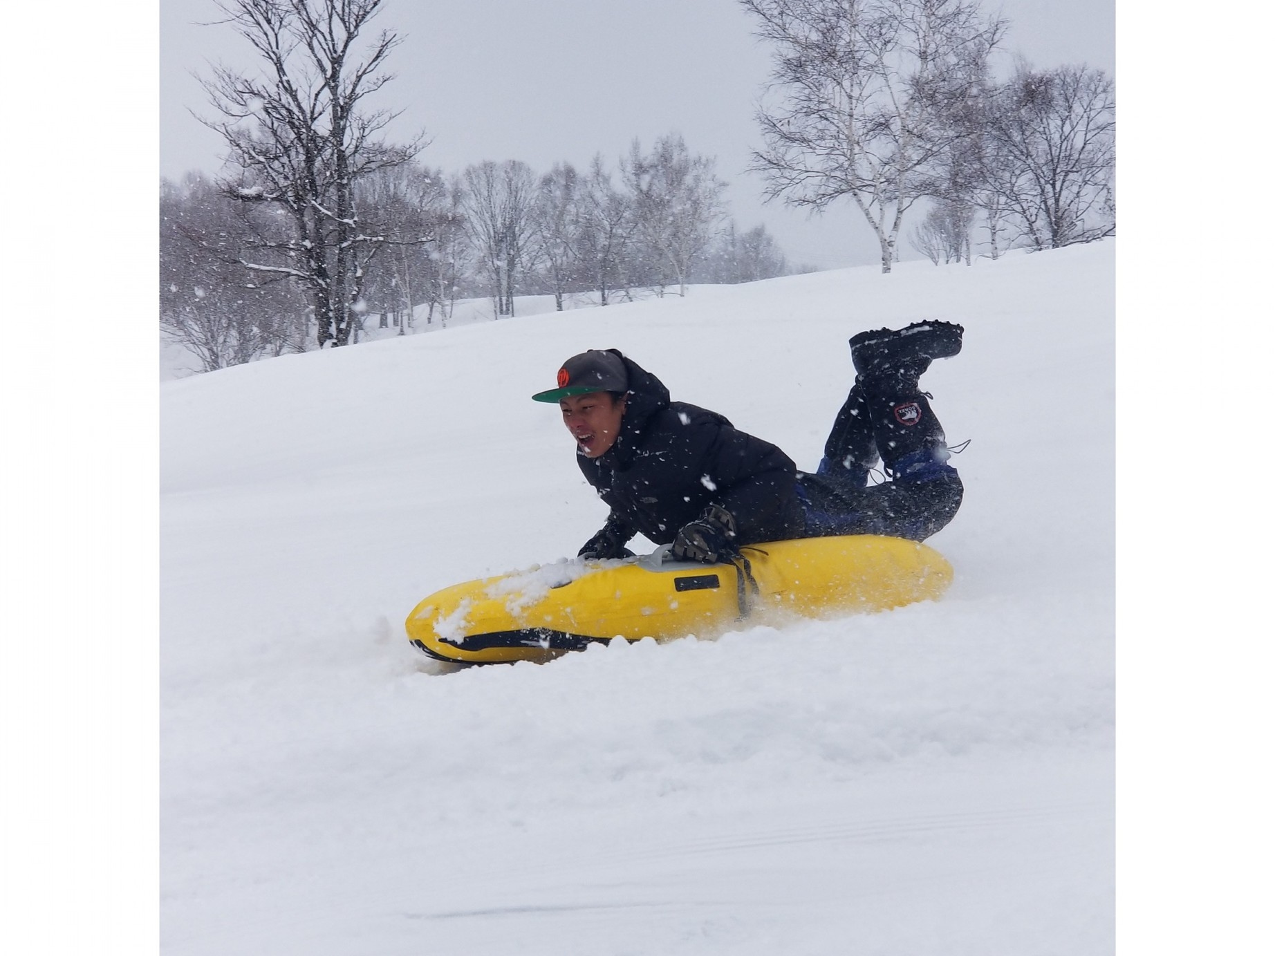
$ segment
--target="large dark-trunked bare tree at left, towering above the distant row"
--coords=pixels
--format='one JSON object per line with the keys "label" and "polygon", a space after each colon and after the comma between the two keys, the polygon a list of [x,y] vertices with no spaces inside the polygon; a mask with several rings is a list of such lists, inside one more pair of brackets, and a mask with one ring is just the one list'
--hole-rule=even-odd
{"label": "large dark-trunked bare tree at left, towering above the distant row", "polygon": [[240,254],[261,274],[289,275],[310,293],[317,340],[344,345],[357,328],[365,269],[385,236],[361,222],[357,182],[408,162],[423,145],[379,139],[393,119],[365,110],[390,79],[398,37],[363,40],[382,0],[218,0],[256,52],[260,73],[226,66],[204,80],[235,171],[227,194],[284,210],[289,228]]}

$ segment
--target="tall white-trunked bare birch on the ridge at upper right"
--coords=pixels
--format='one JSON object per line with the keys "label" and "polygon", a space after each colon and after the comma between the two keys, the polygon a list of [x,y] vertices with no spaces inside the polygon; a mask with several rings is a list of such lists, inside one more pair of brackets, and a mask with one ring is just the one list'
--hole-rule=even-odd
{"label": "tall white-trunked bare birch on the ridge at upper right", "polygon": [[973,0],[741,0],[775,46],[782,103],[757,112],[752,170],[769,199],[813,212],[848,196],[890,272],[903,215],[964,130],[949,121],[1005,22]]}

